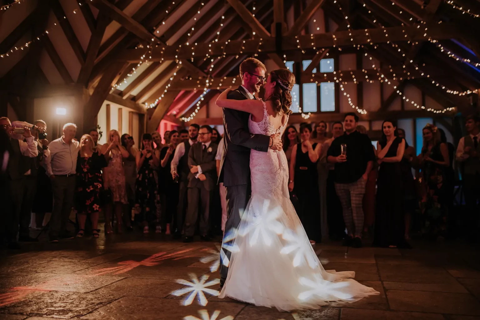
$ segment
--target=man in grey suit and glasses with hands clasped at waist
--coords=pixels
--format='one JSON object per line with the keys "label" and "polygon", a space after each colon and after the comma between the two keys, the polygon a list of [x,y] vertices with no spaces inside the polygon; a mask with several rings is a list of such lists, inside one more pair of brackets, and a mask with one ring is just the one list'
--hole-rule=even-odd
{"label": "man in grey suit and glasses with hands clasped at waist", "polygon": [[215,190],[216,180],[216,149],[212,142],[212,128],[202,126],[198,131],[198,142],[192,144],[188,153],[188,206],[185,217],[185,235],[183,242],[192,242],[193,233],[200,207],[200,237],[208,241],[208,215],[210,200]]}

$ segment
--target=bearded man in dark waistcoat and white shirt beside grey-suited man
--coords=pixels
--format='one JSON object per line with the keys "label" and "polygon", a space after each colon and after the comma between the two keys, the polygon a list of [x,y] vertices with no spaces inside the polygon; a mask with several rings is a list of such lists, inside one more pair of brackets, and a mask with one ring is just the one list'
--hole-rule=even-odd
{"label": "bearded man in dark waistcoat and white shirt beside grey-suited man", "polygon": [[172,174],[172,178],[178,179],[180,182],[177,217],[176,220],[174,219],[173,225],[174,239],[181,238],[183,221],[187,208],[187,185],[188,175],[190,173],[190,167],[188,166],[188,153],[192,144],[197,142],[198,130],[200,130],[200,126],[198,124],[193,123],[190,125],[188,128],[188,134],[190,138],[188,142],[181,142],[177,145],[170,165],[170,173]]}

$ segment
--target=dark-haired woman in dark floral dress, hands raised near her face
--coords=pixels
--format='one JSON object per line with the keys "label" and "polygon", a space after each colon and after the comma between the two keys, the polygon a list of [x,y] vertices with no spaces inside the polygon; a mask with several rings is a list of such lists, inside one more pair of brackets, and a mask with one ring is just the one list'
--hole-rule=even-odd
{"label": "dark-haired woman in dark floral dress, hands raised near her face", "polygon": [[136,154],[137,183],[136,204],[137,221],[144,223],[144,233],[148,233],[149,225],[156,225],[156,233],[160,233],[160,195],[158,193],[157,169],[160,164],[160,151],[152,147],[152,135],[145,133],[142,137],[142,151]]}

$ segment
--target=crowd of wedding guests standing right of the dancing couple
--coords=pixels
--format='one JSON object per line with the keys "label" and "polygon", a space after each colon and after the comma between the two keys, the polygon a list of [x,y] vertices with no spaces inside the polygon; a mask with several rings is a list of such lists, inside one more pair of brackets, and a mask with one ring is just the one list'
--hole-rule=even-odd
{"label": "crowd of wedding guests standing right of the dancing couple", "polygon": [[[301,124],[300,131],[289,126],[284,133],[290,199],[311,243],[343,239],[360,248],[362,237],[371,237],[373,246],[410,248],[412,234],[437,239],[456,237],[459,230],[477,242],[480,118],[466,118],[468,134],[457,147],[442,129],[426,125],[418,155],[395,120],[383,122],[376,146],[358,121],[348,113],[330,132],[321,121]],[[458,186],[460,197],[454,199]],[[454,201],[465,205],[454,207]]]}

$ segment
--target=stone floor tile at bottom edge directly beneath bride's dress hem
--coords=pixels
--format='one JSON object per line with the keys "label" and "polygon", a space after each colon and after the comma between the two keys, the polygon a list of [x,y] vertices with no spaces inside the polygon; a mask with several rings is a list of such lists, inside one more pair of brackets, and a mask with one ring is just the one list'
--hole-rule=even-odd
{"label": "stone floor tile at bottom edge directly beneath bride's dress hem", "polygon": [[320,308],[318,310],[280,312],[276,308],[249,305],[240,311],[235,320],[337,320],[339,311],[338,308]]}

